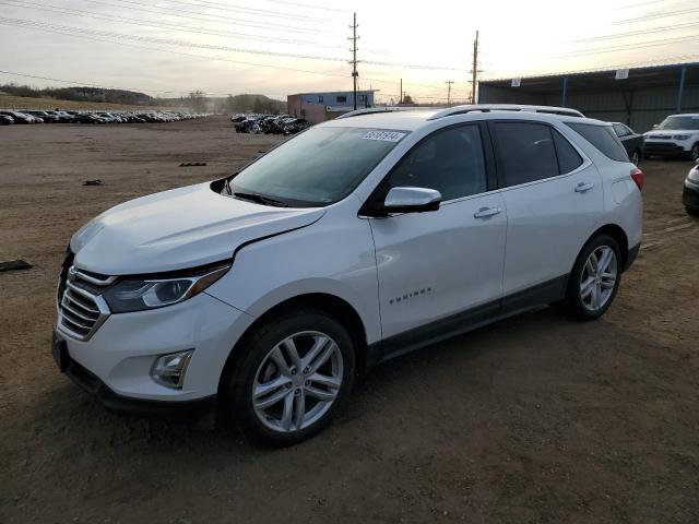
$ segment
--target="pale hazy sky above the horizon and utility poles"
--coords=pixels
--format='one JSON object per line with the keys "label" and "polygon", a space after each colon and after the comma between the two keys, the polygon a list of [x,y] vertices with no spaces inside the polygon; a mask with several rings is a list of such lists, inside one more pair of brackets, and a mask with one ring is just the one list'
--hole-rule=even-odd
{"label": "pale hazy sky above the horizon and utility poles", "polygon": [[[696,0],[0,0],[0,83],[153,96],[352,90],[452,102],[478,79],[699,61]],[[64,81],[64,82],[61,82]]]}

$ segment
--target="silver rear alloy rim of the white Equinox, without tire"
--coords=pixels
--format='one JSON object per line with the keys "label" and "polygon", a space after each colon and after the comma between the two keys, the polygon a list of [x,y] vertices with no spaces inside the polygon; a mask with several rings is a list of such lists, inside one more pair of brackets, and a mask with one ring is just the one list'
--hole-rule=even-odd
{"label": "silver rear alloy rim of the white Equinox, without tire", "polygon": [[611,247],[600,246],[590,253],[580,276],[580,299],[588,310],[597,311],[609,301],[617,272],[616,253]]}

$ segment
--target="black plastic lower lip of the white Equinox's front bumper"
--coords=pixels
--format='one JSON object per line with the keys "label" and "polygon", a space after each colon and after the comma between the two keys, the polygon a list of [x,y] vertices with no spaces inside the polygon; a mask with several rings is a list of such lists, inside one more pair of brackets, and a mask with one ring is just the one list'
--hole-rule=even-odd
{"label": "black plastic lower lip of the white Equinox's front bumper", "polygon": [[70,357],[64,341],[54,335],[54,360],[59,369],[82,390],[99,401],[114,413],[147,418],[177,420],[201,420],[213,416],[216,408],[216,395],[196,401],[149,401],[131,398],[111,391],[97,376]]}

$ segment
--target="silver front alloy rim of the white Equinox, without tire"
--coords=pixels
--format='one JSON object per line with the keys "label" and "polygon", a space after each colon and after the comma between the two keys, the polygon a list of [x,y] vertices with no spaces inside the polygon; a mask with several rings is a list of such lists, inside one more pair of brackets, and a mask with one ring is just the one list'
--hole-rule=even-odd
{"label": "silver front alloy rim of the white Equinox, without tire", "polygon": [[254,414],[274,431],[305,429],[335,402],[343,370],[342,352],[330,336],[317,331],[293,334],[258,368],[251,392]]}

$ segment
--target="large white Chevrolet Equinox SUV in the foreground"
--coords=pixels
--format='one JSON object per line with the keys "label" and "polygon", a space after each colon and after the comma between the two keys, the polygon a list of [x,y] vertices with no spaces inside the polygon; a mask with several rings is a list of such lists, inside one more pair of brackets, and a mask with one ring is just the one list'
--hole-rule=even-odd
{"label": "large white Chevrolet Equinox SUV in the foreground", "polygon": [[643,176],[611,124],[555,112],[358,111],[103,213],[63,264],[60,369],[110,409],[216,406],[283,445],[391,357],[542,305],[600,317]]}

